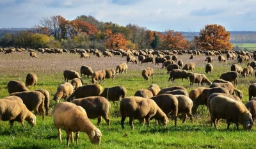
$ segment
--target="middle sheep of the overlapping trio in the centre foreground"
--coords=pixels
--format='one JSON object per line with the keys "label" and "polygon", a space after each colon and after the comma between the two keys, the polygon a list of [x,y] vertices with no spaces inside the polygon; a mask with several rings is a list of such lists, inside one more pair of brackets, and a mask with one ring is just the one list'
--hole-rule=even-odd
{"label": "middle sheep of the overlapping trio in the centre foreground", "polygon": [[178,100],[174,95],[170,94],[161,94],[157,95],[156,97],[152,97],[160,107],[161,110],[166,114],[166,116],[173,115],[174,118],[174,125],[177,126],[177,114],[178,114]]}

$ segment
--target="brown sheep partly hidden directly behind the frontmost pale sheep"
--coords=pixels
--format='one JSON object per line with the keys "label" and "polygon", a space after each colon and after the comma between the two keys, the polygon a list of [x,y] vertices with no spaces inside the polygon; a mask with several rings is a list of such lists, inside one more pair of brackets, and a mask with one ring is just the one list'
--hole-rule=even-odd
{"label": "brown sheep partly hidden directly behind the frontmost pale sheep", "polygon": [[108,118],[110,103],[104,97],[86,97],[86,98],[77,98],[72,101],[73,104],[81,106],[87,113],[88,118],[98,118],[97,125],[100,125],[101,117],[107,122],[110,126],[110,120]]}

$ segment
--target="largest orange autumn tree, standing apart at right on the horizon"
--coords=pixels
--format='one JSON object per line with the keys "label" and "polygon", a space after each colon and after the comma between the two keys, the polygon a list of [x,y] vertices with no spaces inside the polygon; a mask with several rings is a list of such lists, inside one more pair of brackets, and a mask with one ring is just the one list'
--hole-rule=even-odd
{"label": "largest orange autumn tree, standing apart at right on the horizon", "polygon": [[195,36],[196,46],[202,50],[232,50],[230,32],[217,24],[207,24],[201,29],[199,36]]}

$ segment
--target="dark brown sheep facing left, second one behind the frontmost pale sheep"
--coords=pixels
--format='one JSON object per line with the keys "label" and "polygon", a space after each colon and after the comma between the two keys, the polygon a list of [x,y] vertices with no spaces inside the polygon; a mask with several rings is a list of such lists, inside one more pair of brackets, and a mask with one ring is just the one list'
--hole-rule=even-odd
{"label": "dark brown sheep facing left, second one behind the frontmost pale sheep", "polygon": [[85,86],[81,86],[70,95],[70,97],[67,98],[67,101],[70,102],[74,98],[84,98],[84,97],[90,97],[90,96],[99,96],[103,91],[102,86],[100,84],[88,84]]}

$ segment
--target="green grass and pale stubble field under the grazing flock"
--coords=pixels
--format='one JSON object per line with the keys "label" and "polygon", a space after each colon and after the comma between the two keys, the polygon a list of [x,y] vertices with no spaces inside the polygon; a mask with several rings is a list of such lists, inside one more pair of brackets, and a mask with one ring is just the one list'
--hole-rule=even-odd
{"label": "green grass and pale stubble field under the grazing flock", "polygon": [[[38,76],[38,84],[29,87],[29,90],[44,88],[48,90],[51,97],[56,92],[58,86],[63,84],[63,70],[80,71],[82,65],[93,68],[93,71],[104,70],[107,68],[116,68],[116,65],[125,62],[126,58],[113,56],[112,58],[96,58],[91,54],[90,59],[80,59],[79,54],[41,54],[38,58],[30,58],[29,52],[15,52],[13,54],[0,53],[0,98],[8,96],[6,85],[11,80],[25,82],[26,75],[33,72]],[[205,74],[204,67],[206,64],[205,56],[195,56],[195,59],[189,59],[190,55],[178,56],[178,60],[182,59],[184,63],[193,62],[196,64],[196,73]],[[212,74],[205,74],[210,81],[218,79],[223,72],[230,71],[230,65],[237,61],[229,60],[227,63],[218,63],[218,56],[213,57],[214,61]],[[141,71],[144,68],[152,67],[154,69],[154,81],[150,77],[149,81],[143,81]],[[246,63],[243,64],[246,67]],[[175,79],[174,82],[168,82],[169,75],[165,69],[161,69],[161,65],[133,64],[128,63],[127,74],[116,75],[115,82],[106,79],[102,85],[105,87],[125,86],[127,96],[132,96],[137,90],[147,89],[150,84],[158,84],[160,88],[168,86],[180,85],[184,86],[188,92],[198,88],[197,84],[189,86],[189,82],[184,79]],[[91,79],[83,76],[85,84],[90,84]],[[69,81],[70,82],[70,81]],[[254,76],[239,77],[239,90],[244,93],[243,102],[248,101],[248,86],[250,82],[256,82]],[[55,103],[51,100],[51,111],[54,109]],[[255,126],[251,131],[236,130],[236,126],[232,124],[230,130],[227,129],[225,120],[221,120],[218,129],[210,126],[209,114],[205,106],[198,108],[198,117],[191,123],[188,118],[185,123],[181,123],[182,119],[177,121],[177,127],[174,127],[173,120],[170,119],[167,127],[156,125],[154,120],[150,122],[150,126],[141,125],[138,120],[134,121],[134,130],[131,130],[128,122],[125,121],[125,129],[122,130],[120,125],[119,104],[111,102],[110,120],[111,126],[108,127],[106,122],[102,122],[99,126],[102,132],[102,141],[100,145],[92,145],[88,136],[81,132],[79,136],[79,144],[70,143],[70,148],[255,148],[254,137],[256,135]],[[97,120],[92,120],[97,125]],[[8,122],[0,123],[0,148],[66,148],[66,134],[62,130],[63,142],[58,141],[58,132],[53,125],[52,116],[46,116],[42,120],[42,116],[37,116],[36,127],[31,128],[25,122],[25,129],[22,129],[20,123],[15,122],[13,128],[10,129]]]}

